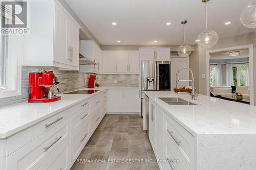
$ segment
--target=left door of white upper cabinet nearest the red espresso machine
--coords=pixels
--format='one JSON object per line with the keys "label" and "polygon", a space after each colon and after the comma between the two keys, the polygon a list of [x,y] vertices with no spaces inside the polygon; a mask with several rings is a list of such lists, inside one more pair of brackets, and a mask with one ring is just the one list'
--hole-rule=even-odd
{"label": "left door of white upper cabinet nearest the red espresso machine", "polygon": [[[54,30],[54,56],[53,61],[63,64],[70,63],[70,44],[69,39],[69,17],[56,4],[55,5],[55,30]],[[47,49],[45,49],[47,50]]]}

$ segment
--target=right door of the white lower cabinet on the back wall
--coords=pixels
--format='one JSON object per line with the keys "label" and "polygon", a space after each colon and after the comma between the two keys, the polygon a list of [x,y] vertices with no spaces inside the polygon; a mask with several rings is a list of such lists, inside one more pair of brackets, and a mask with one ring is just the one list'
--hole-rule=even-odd
{"label": "right door of the white lower cabinet on the back wall", "polygon": [[140,90],[125,89],[124,90],[124,112],[140,111]]}

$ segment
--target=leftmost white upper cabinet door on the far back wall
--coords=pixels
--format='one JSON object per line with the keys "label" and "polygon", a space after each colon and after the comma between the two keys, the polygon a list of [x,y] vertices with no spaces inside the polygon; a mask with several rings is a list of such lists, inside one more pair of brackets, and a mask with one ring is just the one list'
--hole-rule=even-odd
{"label": "leftmost white upper cabinet door on the far back wall", "polygon": [[117,72],[117,53],[103,52],[103,72]]}

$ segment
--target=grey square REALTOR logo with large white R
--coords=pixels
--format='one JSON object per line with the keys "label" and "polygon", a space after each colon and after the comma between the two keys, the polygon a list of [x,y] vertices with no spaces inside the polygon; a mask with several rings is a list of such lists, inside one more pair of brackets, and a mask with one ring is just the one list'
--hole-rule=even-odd
{"label": "grey square REALTOR logo with large white R", "polygon": [[1,34],[27,35],[28,32],[27,1],[2,1]]}

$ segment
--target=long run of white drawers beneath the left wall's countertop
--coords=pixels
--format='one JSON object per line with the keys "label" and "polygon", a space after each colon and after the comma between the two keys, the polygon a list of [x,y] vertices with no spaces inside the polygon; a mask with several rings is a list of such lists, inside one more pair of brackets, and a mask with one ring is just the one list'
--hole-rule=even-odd
{"label": "long run of white drawers beneath the left wall's countertop", "polygon": [[106,90],[0,140],[0,169],[70,169],[105,113]]}

